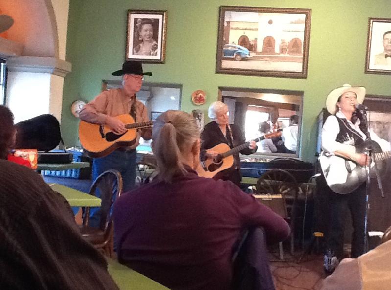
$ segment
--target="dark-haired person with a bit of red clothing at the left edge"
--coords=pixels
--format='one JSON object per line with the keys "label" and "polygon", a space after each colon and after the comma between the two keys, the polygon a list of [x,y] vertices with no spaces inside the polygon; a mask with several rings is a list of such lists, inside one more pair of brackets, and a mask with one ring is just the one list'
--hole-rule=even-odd
{"label": "dark-haired person with a bit of red clothing at the left edge", "polygon": [[6,159],[31,168],[28,160],[24,160],[20,156],[14,156],[11,153],[15,146],[15,138],[14,114],[7,107],[0,105],[0,159]]}

